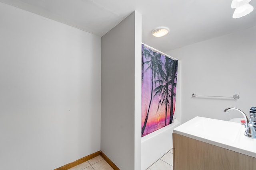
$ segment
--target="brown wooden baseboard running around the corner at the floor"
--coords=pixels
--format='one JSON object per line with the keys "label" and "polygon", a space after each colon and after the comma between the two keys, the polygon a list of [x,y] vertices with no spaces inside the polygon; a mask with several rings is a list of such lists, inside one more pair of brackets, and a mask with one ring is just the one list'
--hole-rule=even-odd
{"label": "brown wooden baseboard running around the corner at the floor", "polygon": [[104,158],[106,160],[106,162],[108,162],[108,164],[114,169],[114,170],[120,170],[103,152],[98,151],[95,152],[93,154],[90,154],[88,156],[84,156],[83,158],[80,158],[74,162],[71,162],[69,164],[66,164],[64,166],[61,166],[60,168],[56,168],[54,170],[68,170],[74,166],[77,166],[79,164],[82,164],[83,162],[86,162],[92,158],[95,158],[96,156],[102,156],[102,158]]}

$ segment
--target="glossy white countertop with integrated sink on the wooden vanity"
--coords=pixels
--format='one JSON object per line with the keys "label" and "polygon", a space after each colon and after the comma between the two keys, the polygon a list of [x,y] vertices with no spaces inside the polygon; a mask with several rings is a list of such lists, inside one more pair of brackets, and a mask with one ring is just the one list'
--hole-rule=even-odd
{"label": "glossy white countertop with integrated sink on the wooden vanity", "polygon": [[179,135],[256,158],[256,139],[246,137],[244,131],[240,123],[206,117],[195,117],[173,129]]}

